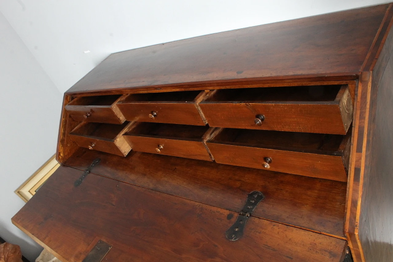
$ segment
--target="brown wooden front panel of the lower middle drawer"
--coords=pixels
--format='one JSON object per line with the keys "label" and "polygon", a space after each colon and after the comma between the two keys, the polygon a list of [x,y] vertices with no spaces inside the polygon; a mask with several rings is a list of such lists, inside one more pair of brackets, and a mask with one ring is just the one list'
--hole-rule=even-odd
{"label": "brown wooden front panel of the lower middle drawer", "polygon": [[212,161],[208,150],[200,141],[128,135],[125,135],[124,137],[134,151]]}

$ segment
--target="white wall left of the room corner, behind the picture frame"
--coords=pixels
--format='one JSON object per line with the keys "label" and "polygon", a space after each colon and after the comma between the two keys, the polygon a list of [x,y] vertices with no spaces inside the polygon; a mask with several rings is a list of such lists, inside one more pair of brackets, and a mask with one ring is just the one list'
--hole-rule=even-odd
{"label": "white wall left of the room corner, behind the picture frame", "polygon": [[62,94],[0,13],[0,236],[30,260],[41,247],[11,223],[13,191],[56,150]]}

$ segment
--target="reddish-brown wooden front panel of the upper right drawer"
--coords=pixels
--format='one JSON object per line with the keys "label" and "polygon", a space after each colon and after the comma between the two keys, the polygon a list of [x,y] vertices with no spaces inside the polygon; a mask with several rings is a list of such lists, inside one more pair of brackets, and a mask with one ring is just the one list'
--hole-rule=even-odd
{"label": "reddish-brown wooden front panel of the upper right drawer", "polygon": [[[345,135],[352,122],[352,105],[343,120],[339,105],[334,103],[200,103],[199,106],[212,127]],[[257,125],[255,118],[259,114],[264,120]]]}

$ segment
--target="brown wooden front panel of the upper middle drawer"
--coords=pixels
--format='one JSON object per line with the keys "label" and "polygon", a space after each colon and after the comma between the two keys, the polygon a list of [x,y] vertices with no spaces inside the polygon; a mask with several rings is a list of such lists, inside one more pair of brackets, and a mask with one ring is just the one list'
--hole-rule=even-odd
{"label": "brown wooden front panel of the upper middle drawer", "polygon": [[193,103],[120,103],[118,107],[127,121],[205,125]]}

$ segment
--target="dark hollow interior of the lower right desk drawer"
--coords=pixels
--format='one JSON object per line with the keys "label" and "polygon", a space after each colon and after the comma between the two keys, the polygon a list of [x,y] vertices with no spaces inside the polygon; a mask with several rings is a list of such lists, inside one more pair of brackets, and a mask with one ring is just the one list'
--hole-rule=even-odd
{"label": "dark hollow interior of the lower right desk drawer", "polygon": [[343,151],[347,138],[348,135],[224,128],[208,142],[337,155]]}

